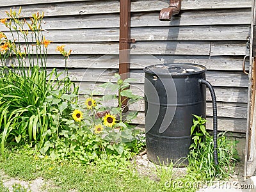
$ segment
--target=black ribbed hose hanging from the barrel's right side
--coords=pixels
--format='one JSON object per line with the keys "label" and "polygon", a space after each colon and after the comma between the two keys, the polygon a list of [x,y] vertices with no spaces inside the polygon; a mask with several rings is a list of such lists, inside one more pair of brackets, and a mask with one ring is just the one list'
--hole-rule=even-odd
{"label": "black ribbed hose hanging from the barrel's right side", "polygon": [[199,79],[199,83],[205,84],[207,88],[209,88],[211,92],[211,97],[212,97],[212,111],[213,111],[213,158],[214,158],[214,163],[218,163],[218,153],[217,153],[217,134],[218,134],[218,122],[217,122],[217,104],[216,104],[216,96],[214,93],[214,90],[212,88],[211,83],[208,81],[205,81],[204,79]]}

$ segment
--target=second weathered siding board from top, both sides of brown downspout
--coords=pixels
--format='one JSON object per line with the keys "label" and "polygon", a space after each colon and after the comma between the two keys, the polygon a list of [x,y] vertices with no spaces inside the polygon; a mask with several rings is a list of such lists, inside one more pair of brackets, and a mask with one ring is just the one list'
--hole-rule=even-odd
{"label": "second weathered siding board from top, both sides of brown downspout", "polygon": [[[180,13],[172,22],[159,21],[158,12],[132,13],[131,27],[159,27],[159,26],[212,26],[250,24],[251,9],[239,10],[196,10]],[[72,15],[65,17],[45,17],[43,29],[93,29],[119,28],[119,14],[104,15]],[[1,24],[0,31],[6,31]]]}

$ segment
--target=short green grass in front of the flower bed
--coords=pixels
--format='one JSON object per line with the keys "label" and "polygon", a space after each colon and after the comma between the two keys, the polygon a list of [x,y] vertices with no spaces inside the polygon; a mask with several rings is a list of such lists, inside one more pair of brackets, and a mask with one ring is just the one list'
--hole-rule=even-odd
{"label": "short green grass in front of the flower bed", "polygon": [[[57,163],[24,150],[10,152],[5,161],[0,161],[0,172],[5,177],[24,181],[42,177],[45,181],[42,189],[45,191],[170,191],[161,180],[140,175],[134,164],[129,162],[118,166]],[[0,191],[8,191],[3,186],[3,173]],[[15,191],[26,191],[18,187]]]}

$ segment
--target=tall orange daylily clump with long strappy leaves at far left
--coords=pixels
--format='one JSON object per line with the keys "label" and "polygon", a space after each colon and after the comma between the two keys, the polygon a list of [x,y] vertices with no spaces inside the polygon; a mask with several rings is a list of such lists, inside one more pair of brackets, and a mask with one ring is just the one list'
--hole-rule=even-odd
{"label": "tall orange daylily clump with long strappy leaves at far left", "polygon": [[[44,13],[34,13],[30,21],[20,18],[19,12],[12,9],[6,12],[8,19],[1,19],[8,35],[0,32],[0,139],[1,154],[4,147],[24,145],[33,141],[41,148],[45,142],[44,132],[51,126],[51,106],[46,99],[52,92],[70,93],[74,83],[56,68],[47,71],[47,47],[42,22]],[[6,33],[7,34],[7,33]],[[65,63],[70,54],[63,47]],[[66,73],[66,72],[65,72]],[[60,88],[61,87],[61,88]],[[74,88],[77,93],[77,88]]]}

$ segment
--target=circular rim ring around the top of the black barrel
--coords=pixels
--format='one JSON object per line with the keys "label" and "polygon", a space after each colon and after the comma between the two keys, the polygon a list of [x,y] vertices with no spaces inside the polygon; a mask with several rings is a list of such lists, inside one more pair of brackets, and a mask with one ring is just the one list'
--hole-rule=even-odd
{"label": "circular rim ring around the top of the black barrel", "polygon": [[159,73],[156,73],[154,71],[152,71],[150,68],[152,67],[156,67],[156,65],[160,65],[160,64],[156,64],[156,65],[149,65],[148,67],[145,67],[143,69],[143,71],[145,73],[148,73],[148,74],[155,74],[157,76],[191,76],[191,75],[195,75],[195,74],[203,74],[204,72],[206,72],[207,68],[204,66],[204,65],[199,65],[199,64],[194,64],[194,63],[164,63],[164,64],[161,64],[161,65],[193,65],[195,67],[200,67],[202,68],[202,70],[200,71],[196,71],[196,72],[185,72],[185,73],[163,73],[163,72],[159,72]]}

